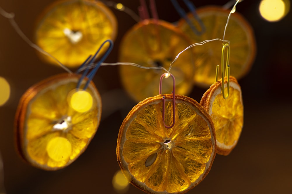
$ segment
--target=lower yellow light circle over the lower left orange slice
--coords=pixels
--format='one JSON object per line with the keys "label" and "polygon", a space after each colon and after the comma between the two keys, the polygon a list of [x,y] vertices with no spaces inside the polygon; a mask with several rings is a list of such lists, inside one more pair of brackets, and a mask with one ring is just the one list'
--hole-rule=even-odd
{"label": "lower yellow light circle over the lower left orange slice", "polygon": [[54,137],[46,146],[49,157],[55,161],[66,161],[72,153],[72,146],[64,137]]}

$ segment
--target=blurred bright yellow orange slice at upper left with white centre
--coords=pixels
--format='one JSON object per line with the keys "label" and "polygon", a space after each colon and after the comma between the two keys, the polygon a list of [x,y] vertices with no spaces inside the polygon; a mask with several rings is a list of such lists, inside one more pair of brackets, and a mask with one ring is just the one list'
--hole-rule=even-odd
{"label": "blurred bright yellow orange slice at upper left with white centre", "polygon": [[[117,20],[101,2],[58,1],[41,15],[35,30],[38,46],[67,67],[79,67],[107,39],[117,35]],[[105,52],[102,48],[98,56]],[[40,54],[47,62],[53,59]]]}

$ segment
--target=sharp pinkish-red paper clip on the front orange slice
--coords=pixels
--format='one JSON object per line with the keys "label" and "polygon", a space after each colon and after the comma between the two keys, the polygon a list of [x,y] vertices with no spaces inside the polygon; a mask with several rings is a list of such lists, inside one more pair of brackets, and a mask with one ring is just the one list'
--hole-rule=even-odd
{"label": "sharp pinkish-red paper clip on the front orange slice", "polygon": [[165,128],[172,128],[175,124],[175,78],[172,74],[169,74],[169,73],[165,73],[165,74],[162,74],[161,77],[160,77],[160,82],[159,82],[159,95],[161,94],[161,89],[162,89],[162,79],[164,77],[168,78],[169,76],[172,77],[172,80],[173,80],[173,91],[171,92],[172,93],[172,114],[173,114],[173,121],[172,121],[172,125],[171,126],[167,126],[165,124],[165,119],[164,119],[164,115],[165,115],[165,97],[162,98],[162,118],[163,118],[163,124],[164,124],[164,127]]}

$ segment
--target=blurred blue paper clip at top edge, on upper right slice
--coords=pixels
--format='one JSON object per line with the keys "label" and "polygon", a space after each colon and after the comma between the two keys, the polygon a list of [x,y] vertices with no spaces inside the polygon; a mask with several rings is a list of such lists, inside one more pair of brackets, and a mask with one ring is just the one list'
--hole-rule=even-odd
{"label": "blurred blue paper clip at top edge, on upper right slice", "polygon": [[190,12],[193,14],[194,18],[197,20],[197,22],[199,23],[201,30],[197,30],[197,28],[194,26],[194,24],[192,23],[192,21],[190,20],[190,18],[187,17],[187,13],[185,13],[185,11],[183,10],[182,7],[180,7],[180,5],[178,4],[178,1],[176,0],[171,0],[171,3],[173,4],[174,8],[176,9],[176,11],[178,12],[178,14],[180,15],[180,17],[184,18],[185,21],[187,22],[187,24],[190,26],[190,28],[192,29],[192,31],[197,35],[200,36],[201,34],[203,34],[205,32],[205,26],[204,23],[202,22],[201,18],[199,18],[199,16],[197,15],[196,12],[196,7],[194,6],[194,4],[189,1],[189,0],[183,0],[185,2],[185,4],[187,5],[187,7],[189,8]]}

